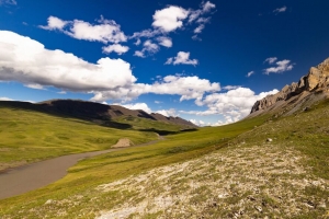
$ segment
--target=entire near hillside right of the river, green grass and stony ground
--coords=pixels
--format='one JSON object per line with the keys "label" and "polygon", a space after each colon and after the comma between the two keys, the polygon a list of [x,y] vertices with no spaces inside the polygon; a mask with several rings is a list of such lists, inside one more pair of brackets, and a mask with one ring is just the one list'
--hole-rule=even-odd
{"label": "entire near hillside right of the river, green grass and stony ground", "polygon": [[288,117],[172,132],[80,161],[49,186],[0,200],[0,217],[326,218],[328,124],[325,101]]}

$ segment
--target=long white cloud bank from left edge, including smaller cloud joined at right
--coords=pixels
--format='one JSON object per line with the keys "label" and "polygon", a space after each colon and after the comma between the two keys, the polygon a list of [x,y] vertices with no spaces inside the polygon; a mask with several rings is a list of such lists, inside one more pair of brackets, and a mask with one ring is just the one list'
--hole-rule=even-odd
{"label": "long white cloud bank from left edge, including smaller cloud joined at right", "polygon": [[179,95],[180,101],[202,100],[205,94],[220,91],[219,83],[195,76],[157,77],[152,84],[136,83],[131,65],[122,59],[101,58],[91,64],[9,31],[0,31],[0,81],[88,92],[97,102],[126,102],[147,93]]}

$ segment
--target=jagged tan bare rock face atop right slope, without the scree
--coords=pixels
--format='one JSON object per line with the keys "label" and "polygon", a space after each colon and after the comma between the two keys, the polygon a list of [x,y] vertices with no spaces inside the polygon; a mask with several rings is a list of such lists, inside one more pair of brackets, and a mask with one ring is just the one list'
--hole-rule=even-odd
{"label": "jagged tan bare rock face atop right slope, without the scree", "polygon": [[303,92],[329,91],[329,58],[317,67],[311,67],[308,74],[300,78],[298,83],[285,85],[279,93],[268,95],[257,101],[251,108],[251,114],[257,111],[268,110],[280,101],[288,101]]}

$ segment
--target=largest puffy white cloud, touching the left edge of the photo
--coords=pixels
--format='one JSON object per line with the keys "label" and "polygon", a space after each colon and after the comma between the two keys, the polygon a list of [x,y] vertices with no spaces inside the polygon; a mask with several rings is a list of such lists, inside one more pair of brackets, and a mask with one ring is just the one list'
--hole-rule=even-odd
{"label": "largest puffy white cloud, touching the left edge of the photo", "polygon": [[63,50],[46,49],[29,37],[0,31],[0,80],[92,92],[129,85],[136,78],[131,65],[122,59],[101,58],[91,64]]}

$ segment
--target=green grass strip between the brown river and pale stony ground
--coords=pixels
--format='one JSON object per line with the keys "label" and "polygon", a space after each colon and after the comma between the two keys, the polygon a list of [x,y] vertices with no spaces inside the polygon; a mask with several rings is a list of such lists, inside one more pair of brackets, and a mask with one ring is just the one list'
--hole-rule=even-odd
{"label": "green grass strip between the brown river and pale stony ground", "polygon": [[[44,204],[48,199],[58,200],[76,196],[80,197],[81,201],[78,206],[65,207],[69,212],[69,215],[64,216],[65,218],[75,218],[81,210],[110,208],[111,206],[106,206],[109,201],[105,200],[105,197],[100,196],[99,192],[94,189],[95,186],[156,166],[198,158],[202,154],[218,150],[226,147],[228,141],[238,135],[261,125],[265,117],[258,117],[222,127],[181,131],[168,135],[166,140],[155,145],[129,148],[80,161],[69,170],[66,177],[49,186],[22,196],[0,200],[0,216],[2,214],[18,218],[35,218],[43,215],[58,217],[58,209],[53,211],[47,209]],[[113,194],[113,198],[115,198],[115,194]],[[37,208],[38,212],[29,210],[32,208]],[[92,218],[92,211],[84,217]]]}

